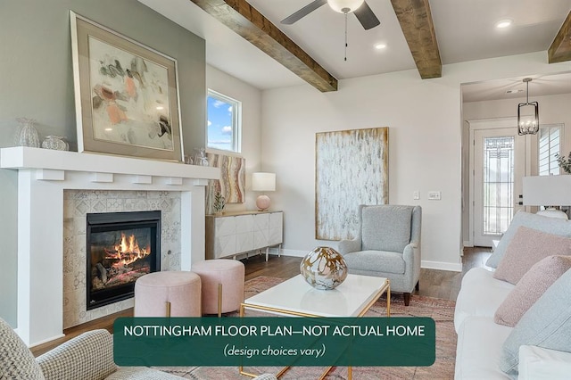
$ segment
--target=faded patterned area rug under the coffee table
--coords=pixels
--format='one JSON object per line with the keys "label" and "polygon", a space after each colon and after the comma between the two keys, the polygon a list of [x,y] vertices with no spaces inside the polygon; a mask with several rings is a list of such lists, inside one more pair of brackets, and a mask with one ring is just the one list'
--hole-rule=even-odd
{"label": "faded patterned area rug under the coffee table", "polygon": [[[276,277],[256,277],[245,283],[245,298],[263,292],[271,286],[284,281]],[[436,361],[430,367],[354,367],[352,378],[355,380],[447,380],[454,378],[454,359],[456,356],[456,333],[454,332],[454,306],[456,302],[437,298],[412,295],[410,305],[404,306],[402,294],[391,296],[391,315],[394,317],[430,317],[436,322]],[[386,314],[385,297],[377,301],[368,310],[366,316],[384,317]],[[236,313],[228,317],[236,317]],[[244,380],[237,368],[233,367],[176,367],[158,368],[170,374],[194,380]],[[244,368],[254,374],[277,373],[281,368]],[[316,380],[323,373],[322,367],[296,367],[288,369],[280,379]],[[327,380],[347,379],[347,368],[334,367],[326,376]]]}

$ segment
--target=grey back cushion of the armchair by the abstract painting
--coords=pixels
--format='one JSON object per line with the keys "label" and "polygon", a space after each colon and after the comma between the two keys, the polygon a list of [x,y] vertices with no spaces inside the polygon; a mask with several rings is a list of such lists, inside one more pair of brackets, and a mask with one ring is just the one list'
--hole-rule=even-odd
{"label": "grey back cushion of the armchair by the abstract painting", "polygon": [[363,207],[361,210],[361,249],[363,251],[403,252],[404,247],[410,243],[412,209],[411,206],[399,205]]}

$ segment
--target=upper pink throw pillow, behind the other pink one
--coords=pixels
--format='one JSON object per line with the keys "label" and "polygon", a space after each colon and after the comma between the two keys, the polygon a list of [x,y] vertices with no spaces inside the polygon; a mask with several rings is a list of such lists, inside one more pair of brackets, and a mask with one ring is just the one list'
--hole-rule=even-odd
{"label": "upper pink throw pillow, behind the other pink one", "polygon": [[536,262],[552,255],[571,254],[571,239],[519,227],[493,277],[516,285]]}

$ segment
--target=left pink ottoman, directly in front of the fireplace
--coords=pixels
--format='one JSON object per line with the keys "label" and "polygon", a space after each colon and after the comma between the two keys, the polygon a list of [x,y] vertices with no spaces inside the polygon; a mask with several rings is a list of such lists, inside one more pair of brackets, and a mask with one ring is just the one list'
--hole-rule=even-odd
{"label": "left pink ottoman, directly in front of the fireplace", "polygon": [[193,272],[153,272],[135,283],[135,317],[201,317],[201,282]]}

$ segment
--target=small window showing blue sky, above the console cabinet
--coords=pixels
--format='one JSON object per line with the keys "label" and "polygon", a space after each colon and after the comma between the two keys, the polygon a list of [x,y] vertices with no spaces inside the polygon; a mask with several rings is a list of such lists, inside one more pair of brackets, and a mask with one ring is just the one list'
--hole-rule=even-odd
{"label": "small window showing blue sky, above the console cabinet", "polygon": [[206,146],[240,153],[241,113],[241,102],[209,89],[206,99]]}

